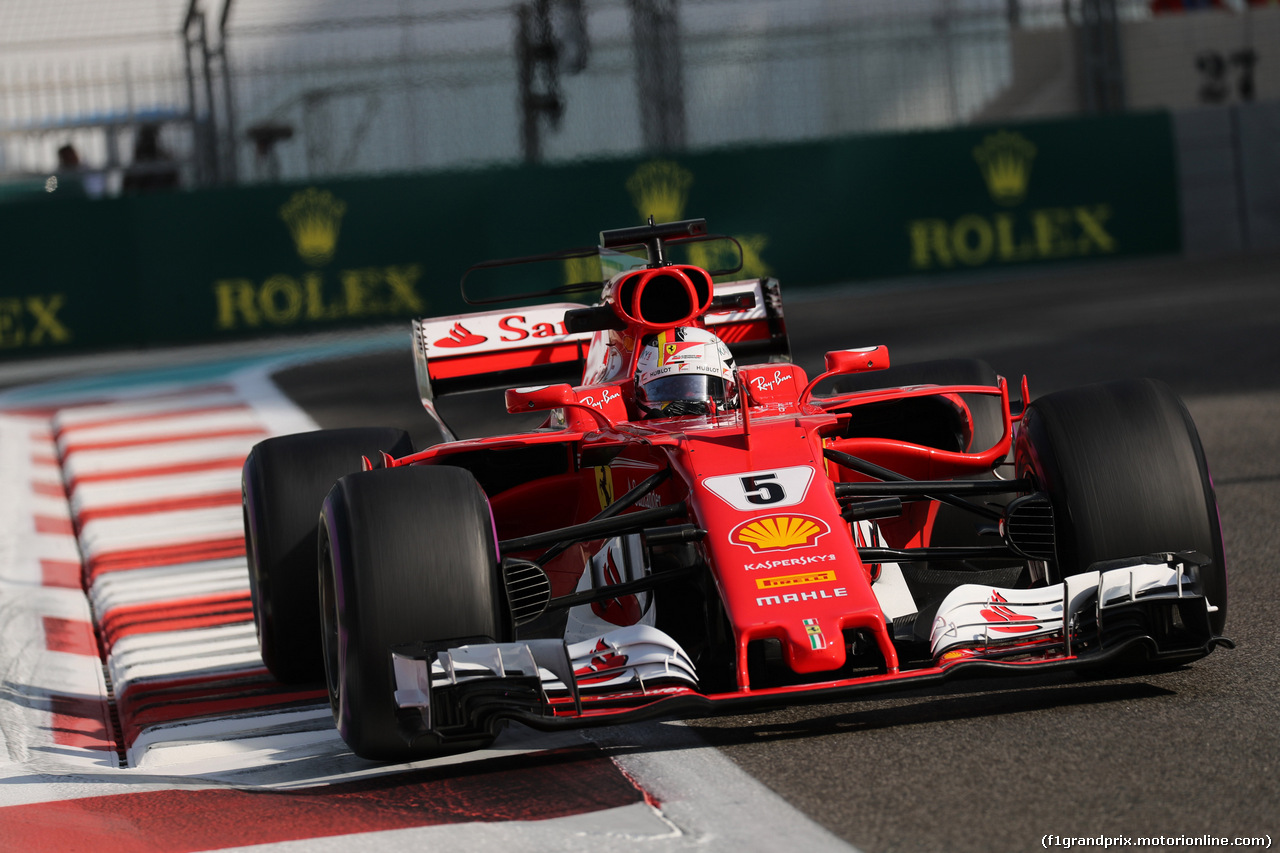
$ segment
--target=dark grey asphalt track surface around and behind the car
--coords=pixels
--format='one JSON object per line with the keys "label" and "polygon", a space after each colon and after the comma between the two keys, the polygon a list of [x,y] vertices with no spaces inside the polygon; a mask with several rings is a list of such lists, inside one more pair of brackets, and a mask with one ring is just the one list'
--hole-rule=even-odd
{"label": "dark grey asphalt track surface around and behind the car", "polygon": [[[1217,487],[1226,634],[1238,648],[1158,675],[965,681],[690,729],[868,852],[1027,850],[1046,835],[1280,840],[1280,257],[783,296],[810,374],[826,350],[884,343],[896,364],[980,357],[1011,386],[1025,373],[1033,398],[1125,377],[1172,386]],[[420,446],[434,438],[407,341],[293,368],[276,383],[324,426],[402,425]],[[463,434],[517,425],[500,412],[492,394],[445,402],[447,418],[470,425]]]}

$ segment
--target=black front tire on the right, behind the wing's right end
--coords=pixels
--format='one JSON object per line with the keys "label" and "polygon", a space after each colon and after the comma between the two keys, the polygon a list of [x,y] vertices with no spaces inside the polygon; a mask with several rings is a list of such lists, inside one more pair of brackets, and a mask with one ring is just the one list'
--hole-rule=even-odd
{"label": "black front tire on the right, behind the wing's right end", "polygon": [[1196,424],[1167,386],[1111,382],[1046,394],[1027,407],[1014,459],[1053,503],[1057,566],[1050,583],[1100,560],[1199,551],[1226,622],[1226,556],[1213,482]]}

